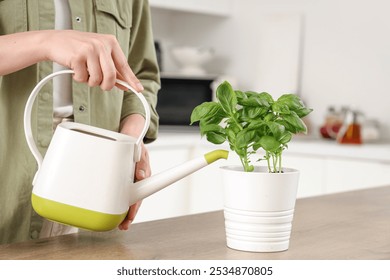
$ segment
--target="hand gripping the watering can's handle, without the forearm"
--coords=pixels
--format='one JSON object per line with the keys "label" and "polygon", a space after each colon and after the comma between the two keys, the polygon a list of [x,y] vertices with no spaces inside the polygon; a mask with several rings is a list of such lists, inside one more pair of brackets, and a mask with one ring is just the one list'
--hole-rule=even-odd
{"label": "hand gripping the watering can's handle, without the forearm", "polygon": [[119,76],[135,90],[143,90],[115,36],[74,30],[48,35],[52,38],[48,58],[71,68],[75,81],[111,90]]}

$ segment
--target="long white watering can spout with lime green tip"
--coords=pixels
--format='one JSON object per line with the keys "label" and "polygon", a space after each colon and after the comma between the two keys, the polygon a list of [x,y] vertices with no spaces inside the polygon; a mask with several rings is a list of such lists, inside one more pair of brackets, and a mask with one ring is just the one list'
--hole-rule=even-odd
{"label": "long white watering can spout with lime green tip", "polygon": [[158,192],[218,159],[227,159],[228,154],[229,152],[226,150],[214,150],[152,177],[133,183],[130,186],[132,194],[130,195],[131,201],[129,205],[133,205],[137,201]]}

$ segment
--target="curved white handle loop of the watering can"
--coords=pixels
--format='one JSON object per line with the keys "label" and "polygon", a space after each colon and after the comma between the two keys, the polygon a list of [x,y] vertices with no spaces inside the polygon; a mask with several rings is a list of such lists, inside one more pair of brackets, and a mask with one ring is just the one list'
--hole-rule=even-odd
{"label": "curved white handle loop of the watering can", "polygon": [[[35,88],[31,92],[30,97],[27,100],[26,107],[24,109],[24,133],[25,133],[25,136],[26,136],[27,145],[30,148],[30,150],[31,150],[35,160],[38,163],[38,169],[41,167],[43,158],[42,158],[42,155],[39,152],[39,150],[38,150],[38,148],[37,148],[37,146],[35,144],[35,141],[34,141],[34,138],[33,138],[33,134],[32,134],[32,129],[31,129],[31,112],[32,112],[32,107],[34,105],[34,100],[35,100],[36,96],[38,95],[39,91],[42,89],[42,87],[48,81],[53,79],[54,77],[62,75],[62,74],[74,74],[74,71],[73,70],[62,70],[62,71],[54,72],[54,73],[46,76],[45,78],[43,78],[35,86]],[[135,95],[137,95],[137,97],[141,100],[142,105],[143,105],[144,110],[145,110],[145,125],[144,125],[144,128],[143,128],[142,132],[141,132],[141,135],[137,138],[137,141],[136,141],[136,147],[137,148],[135,150],[135,153],[136,153],[135,154],[135,161],[139,161],[140,158],[141,158],[141,142],[142,142],[143,138],[145,137],[146,132],[148,131],[148,128],[149,128],[149,125],[150,125],[149,104],[146,101],[145,97],[141,93],[137,92],[134,88],[132,88],[128,83],[126,83],[124,81],[121,81],[121,80],[117,80],[116,82],[117,82],[117,84],[120,84],[120,85],[124,86],[125,88],[127,88],[131,92],[133,92]]]}

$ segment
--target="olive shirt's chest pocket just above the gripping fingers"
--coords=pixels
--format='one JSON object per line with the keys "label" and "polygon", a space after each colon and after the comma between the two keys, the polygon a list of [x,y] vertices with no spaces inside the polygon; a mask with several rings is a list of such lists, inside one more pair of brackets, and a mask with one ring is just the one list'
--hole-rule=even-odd
{"label": "olive shirt's chest pocket just above the gripping fingers", "polygon": [[95,3],[97,32],[115,35],[127,56],[130,45],[133,1],[96,0]]}

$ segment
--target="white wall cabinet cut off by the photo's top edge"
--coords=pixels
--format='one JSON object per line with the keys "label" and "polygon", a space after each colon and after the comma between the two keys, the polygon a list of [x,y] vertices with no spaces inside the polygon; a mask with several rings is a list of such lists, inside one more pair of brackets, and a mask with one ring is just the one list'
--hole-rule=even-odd
{"label": "white wall cabinet cut off by the photo's top edge", "polygon": [[149,0],[152,8],[202,13],[216,16],[229,16],[231,0]]}

